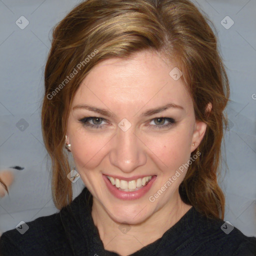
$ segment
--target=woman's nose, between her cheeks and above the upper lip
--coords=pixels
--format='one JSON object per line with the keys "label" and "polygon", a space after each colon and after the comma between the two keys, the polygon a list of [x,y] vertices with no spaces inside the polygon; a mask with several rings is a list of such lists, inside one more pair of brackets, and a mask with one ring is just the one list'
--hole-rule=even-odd
{"label": "woman's nose, between her cheeks and above the upper lip", "polygon": [[109,153],[110,163],[121,171],[129,173],[146,163],[145,146],[132,128],[127,131],[117,129]]}

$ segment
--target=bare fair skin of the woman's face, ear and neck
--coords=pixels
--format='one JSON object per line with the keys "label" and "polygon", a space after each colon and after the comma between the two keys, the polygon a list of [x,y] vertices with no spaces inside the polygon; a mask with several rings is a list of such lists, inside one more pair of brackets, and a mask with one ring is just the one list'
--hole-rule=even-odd
{"label": "bare fair skin of the woman's face, ear and neck", "polygon": [[[93,195],[92,218],[105,249],[120,255],[128,255],[160,238],[191,207],[182,202],[178,193],[186,170],[154,202],[148,199],[189,160],[206,129],[205,123],[195,120],[192,99],[182,80],[175,81],[169,75],[174,67],[174,63],[151,51],[126,59],[103,60],[84,78],[71,103],[66,135],[76,170]],[[170,102],[183,109],[171,107],[140,116]],[[116,116],[73,109],[82,104],[104,108]],[[104,118],[101,122],[88,120],[103,127],[85,126],[79,121],[84,117]],[[157,129],[169,123],[157,122],[157,117],[173,118],[175,123]],[[127,131],[118,127],[123,118],[131,124]],[[121,200],[108,191],[102,174],[126,178],[157,176],[141,198]],[[122,226],[127,227],[125,232],[121,231]]]}

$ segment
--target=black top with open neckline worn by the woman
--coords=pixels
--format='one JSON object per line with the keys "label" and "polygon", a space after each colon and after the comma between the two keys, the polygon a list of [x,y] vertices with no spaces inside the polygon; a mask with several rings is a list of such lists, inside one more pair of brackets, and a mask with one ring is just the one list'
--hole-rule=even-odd
{"label": "black top with open neckline worn by the woman", "polygon": [[[118,255],[103,247],[91,217],[89,194],[84,188],[58,213],[27,222],[29,228],[23,234],[16,229],[4,232],[0,238],[0,255]],[[221,219],[206,218],[191,207],[161,238],[131,255],[255,256],[256,237],[247,237],[230,227]],[[22,228],[25,230],[24,224]]]}

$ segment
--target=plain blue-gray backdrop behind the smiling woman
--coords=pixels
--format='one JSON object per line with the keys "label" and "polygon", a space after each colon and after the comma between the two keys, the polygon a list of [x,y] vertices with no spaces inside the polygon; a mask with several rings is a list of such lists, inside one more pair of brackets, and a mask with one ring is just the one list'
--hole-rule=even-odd
{"label": "plain blue-gray backdrop behind the smiling woman", "polygon": [[[0,199],[1,231],[57,211],[40,128],[43,69],[53,25],[79,2],[0,0],[0,169],[24,167],[14,170],[9,196]],[[226,195],[224,220],[246,235],[256,235],[256,0],[198,0],[197,4],[217,28],[230,79],[229,130],[220,181]],[[24,29],[15,23],[20,16],[29,21]],[[74,195],[82,186],[80,179],[74,183]]]}

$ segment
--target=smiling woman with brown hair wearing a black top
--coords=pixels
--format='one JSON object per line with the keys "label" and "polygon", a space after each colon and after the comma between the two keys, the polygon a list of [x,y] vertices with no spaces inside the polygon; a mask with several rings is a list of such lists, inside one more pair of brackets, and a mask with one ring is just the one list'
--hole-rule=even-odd
{"label": "smiling woman with brown hair wearing a black top", "polygon": [[60,212],[3,233],[1,255],[255,255],[256,238],[222,220],[228,94],[216,37],[190,1],[80,3],[45,67]]}

